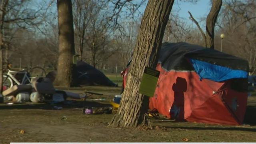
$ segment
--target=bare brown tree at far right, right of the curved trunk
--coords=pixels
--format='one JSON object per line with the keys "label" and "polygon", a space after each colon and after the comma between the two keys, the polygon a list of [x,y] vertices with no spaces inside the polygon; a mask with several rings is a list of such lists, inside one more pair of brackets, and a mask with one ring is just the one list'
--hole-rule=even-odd
{"label": "bare brown tree at far right, right of the curved trunk", "polygon": [[250,75],[256,72],[256,1],[226,0],[218,26],[225,34],[223,50],[249,62]]}

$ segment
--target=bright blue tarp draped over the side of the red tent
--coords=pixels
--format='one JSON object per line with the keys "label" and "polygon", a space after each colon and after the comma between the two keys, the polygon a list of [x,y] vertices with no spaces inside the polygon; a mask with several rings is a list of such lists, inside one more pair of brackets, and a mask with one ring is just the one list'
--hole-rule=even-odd
{"label": "bright blue tarp draped over the side of the red tent", "polygon": [[248,78],[248,72],[243,70],[232,70],[224,66],[214,65],[200,60],[190,60],[200,78],[207,78],[215,82],[222,82],[232,78]]}

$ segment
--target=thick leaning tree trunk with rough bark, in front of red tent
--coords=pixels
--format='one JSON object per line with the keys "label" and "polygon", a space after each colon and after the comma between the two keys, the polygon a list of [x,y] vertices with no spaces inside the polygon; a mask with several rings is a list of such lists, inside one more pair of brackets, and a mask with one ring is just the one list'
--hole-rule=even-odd
{"label": "thick leaning tree trunk with rough bark, in front of red tent", "polygon": [[140,83],[144,68],[156,67],[173,2],[174,0],[149,0],[140,25],[128,82],[118,112],[110,125],[137,127],[146,124],[144,116],[148,110],[149,98],[139,94]]}

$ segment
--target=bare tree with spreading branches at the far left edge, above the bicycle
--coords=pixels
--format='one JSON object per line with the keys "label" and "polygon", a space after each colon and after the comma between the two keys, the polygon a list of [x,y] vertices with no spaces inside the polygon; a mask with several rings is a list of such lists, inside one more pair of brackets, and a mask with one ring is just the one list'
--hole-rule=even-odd
{"label": "bare tree with spreading branches at the far left edge, above the bicycle", "polygon": [[[43,2],[42,2],[43,3]],[[41,4],[42,4],[41,3]],[[0,1],[0,87],[2,88],[2,69],[8,64],[8,52],[13,47],[12,40],[19,28],[30,28],[42,22],[48,6],[38,3],[36,9],[31,8],[30,0]],[[5,52],[5,55],[3,54]],[[5,59],[3,60],[3,58]],[[4,63],[3,63],[4,62]]]}

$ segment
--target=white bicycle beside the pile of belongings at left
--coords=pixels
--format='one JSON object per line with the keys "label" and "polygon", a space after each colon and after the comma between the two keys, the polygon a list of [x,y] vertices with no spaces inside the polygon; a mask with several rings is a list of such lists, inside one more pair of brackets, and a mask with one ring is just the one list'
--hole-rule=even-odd
{"label": "white bicycle beside the pile of belongings at left", "polygon": [[[20,76],[22,78],[16,78],[13,74],[16,75],[23,75]],[[24,68],[21,71],[13,71],[9,70],[6,75],[3,75],[3,86],[7,88],[11,88],[14,86],[14,84],[30,84],[31,78],[39,78],[39,77],[45,77],[46,71],[44,68],[40,66],[36,66],[34,68]]]}

